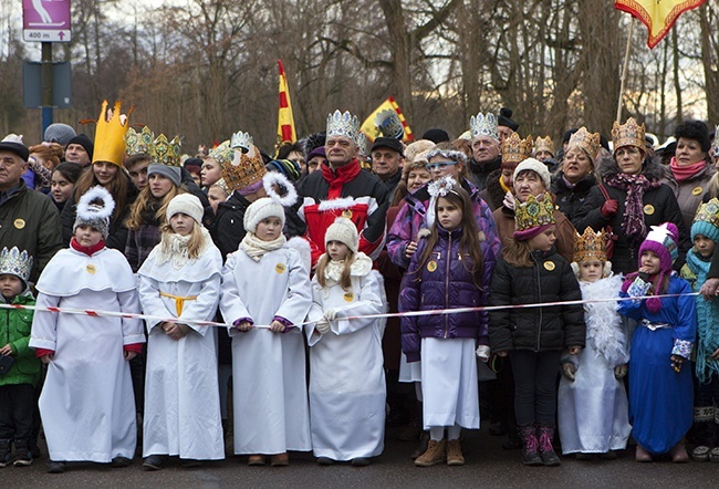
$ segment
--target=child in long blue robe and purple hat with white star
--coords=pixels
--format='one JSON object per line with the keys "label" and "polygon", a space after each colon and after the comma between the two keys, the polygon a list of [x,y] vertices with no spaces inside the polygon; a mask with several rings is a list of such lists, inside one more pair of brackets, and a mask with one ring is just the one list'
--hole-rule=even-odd
{"label": "child in long blue robe and purple hat with white star", "polygon": [[[629,423],[637,461],[669,452],[688,460],[684,436],[691,427],[691,356],[697,311],[691,285],[671,271],[678,231],[671,222],[653,226],[639,247],[639,270],[622,284],[623,298],[678,294],[622,301],[619,313],[637,321],[629,360]],[[684,365],[687,362],[688,365]]]}

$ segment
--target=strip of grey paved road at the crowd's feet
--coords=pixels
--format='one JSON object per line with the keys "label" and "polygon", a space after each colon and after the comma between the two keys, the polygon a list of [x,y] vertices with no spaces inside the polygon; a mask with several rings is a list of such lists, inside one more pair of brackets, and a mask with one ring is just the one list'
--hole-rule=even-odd
{"label": "strip of grey paved road at the crowd's feet", "polygon": [[617,460],[579,461],[564,458],[561,467],[523,467],[519,451],[501,448],[501,438],[486,429],[468,433],[463,441],[467,465],[462,467],[415,467],[409,459],[414,445],[395,439],[389,431],[385,454],[373,465],[319,467],[309,454],[292,454],[289,467],[248,467],[246,458],[208,462],[184,469],[174,460],[157,472],[145,472],[139,459],[124,469],[101,465],[70,466],[62,475],[45,474],[46,458],[28,468],[0,469],[2,488],[653,488],[717,487],[719,464],[653,464],[634,461],[634,449]]}

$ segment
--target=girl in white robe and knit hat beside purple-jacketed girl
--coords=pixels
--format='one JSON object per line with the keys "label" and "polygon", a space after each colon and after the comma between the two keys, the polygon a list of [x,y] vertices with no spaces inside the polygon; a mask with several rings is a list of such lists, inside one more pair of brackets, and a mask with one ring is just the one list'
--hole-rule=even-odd
{"label": "girl in white robe and knit hat beside purple-jacketed girl", "polygon": [[310,344],[312,449],[317,464],[369,464],[384,449],[386,320],[348,316],[384,313],[382,275],[357,251],[357,229],[337,218],[324,236],[327,250],[312,279]]}

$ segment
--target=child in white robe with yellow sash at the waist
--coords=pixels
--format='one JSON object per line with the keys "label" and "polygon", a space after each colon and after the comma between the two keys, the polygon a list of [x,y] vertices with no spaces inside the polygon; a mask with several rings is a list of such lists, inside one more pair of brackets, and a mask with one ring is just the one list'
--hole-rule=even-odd
{"label": "child in white robe with yellow sash at the waist", "polygon": [[167,206],[160,243],[137,272],[147,315],[147,375],[143,456],[146,470],[166,457],[185,467],[225,458],[217,371],[216,332],[192,324],[211,321],[220,298],[222,257],[201,225],[202,205],[191,194]]}

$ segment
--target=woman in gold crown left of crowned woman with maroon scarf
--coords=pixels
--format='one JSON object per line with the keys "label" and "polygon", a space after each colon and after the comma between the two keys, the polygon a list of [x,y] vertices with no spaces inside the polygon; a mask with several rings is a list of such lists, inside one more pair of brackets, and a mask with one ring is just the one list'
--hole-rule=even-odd
{"label": "woman in gold crown left of crowned woman with maroon scarf", "polygon": [[596,185],[595,160],[598,152],[600,133],[590,133],[586,127],[581,127],[570,137],[562,169],[552,179],[556,206],[572,222]]}

